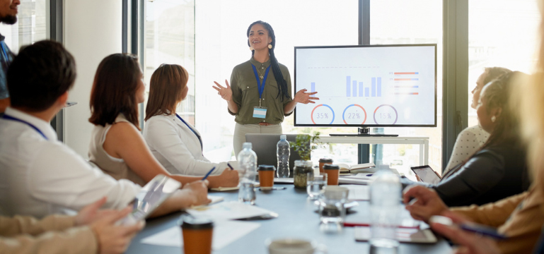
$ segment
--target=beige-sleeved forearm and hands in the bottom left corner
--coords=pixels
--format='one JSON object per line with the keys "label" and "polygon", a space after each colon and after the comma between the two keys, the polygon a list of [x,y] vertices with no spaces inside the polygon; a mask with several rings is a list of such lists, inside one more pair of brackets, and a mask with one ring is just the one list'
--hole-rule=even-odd
{"label": "beige-sleeved forearm and hands in the bottom left corner", "polygon": [[144,223],[116,225],[131,211],[130,207],[98,211],[104,202],[102,198],[76,216],[50,215],[40,221],[28,216],[0,216],[0,254],[124,253]]}

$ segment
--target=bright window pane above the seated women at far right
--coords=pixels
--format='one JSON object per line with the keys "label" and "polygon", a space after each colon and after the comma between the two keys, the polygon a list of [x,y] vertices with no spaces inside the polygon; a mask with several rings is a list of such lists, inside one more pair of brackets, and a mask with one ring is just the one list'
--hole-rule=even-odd
{"label": "bright window pane above the seated women at far right", "polygon": [[472,0],[468,8],[468,126],[475,126],[471,91],[483,68],[533,70],[540,13],[534,0]]}

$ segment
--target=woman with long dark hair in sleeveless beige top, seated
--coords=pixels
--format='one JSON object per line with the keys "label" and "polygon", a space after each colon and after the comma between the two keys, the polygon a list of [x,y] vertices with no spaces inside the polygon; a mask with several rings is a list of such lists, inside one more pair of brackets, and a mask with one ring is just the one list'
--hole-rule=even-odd
{"label": "woman with long dark hair in sleeveless beige top, seated", "polygon": [[[136,56],[112,54],[100,62],[91,91],[91,118],[95,124],[89,159],[115,179],[143,186],[164,174],[190,183],[202,177],[168,173],[151,154],[139,131],[138,104],[144,102],[145,85]],[[209,169],[212,169],[211,167]],[[238,185],[238,172],[209,176],[209,188]]]}

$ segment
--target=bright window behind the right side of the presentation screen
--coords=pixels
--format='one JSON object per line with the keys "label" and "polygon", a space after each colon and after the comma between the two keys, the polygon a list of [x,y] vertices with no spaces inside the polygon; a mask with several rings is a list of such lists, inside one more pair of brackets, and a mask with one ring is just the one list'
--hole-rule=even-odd
{"label": "bright window behind the right side of the presentation screen", "polygon": [[[437,126],[436,128],[385,128],[385,133],[429,137],[429,165],[442,168],[442,1],[373,0],[370,2],[370,44],[436,43]],[[376,153],[376,152],[374,152]],[[383,145],[383,163],[411,174],[419,164],[417,145]],[[446,158],[447,159],[447,158]]]}

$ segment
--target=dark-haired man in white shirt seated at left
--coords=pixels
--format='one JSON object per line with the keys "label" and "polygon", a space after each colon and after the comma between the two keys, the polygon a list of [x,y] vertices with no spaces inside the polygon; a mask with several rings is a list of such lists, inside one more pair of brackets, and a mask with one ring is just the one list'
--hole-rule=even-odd
{"label": "dark-haired man in white shirt seated at left", "polygon": [[[0,119],[0,214],[33,215],[81,210],[102,197],[106,208],[122,208],[141,187],[117,181],[57,140],[49,122],[64,107],[76,79],[76,63],[62,44],[25,47],[8,69],[11,107]],[[202,205],[206,183],[174,193],[155,215]]]}

